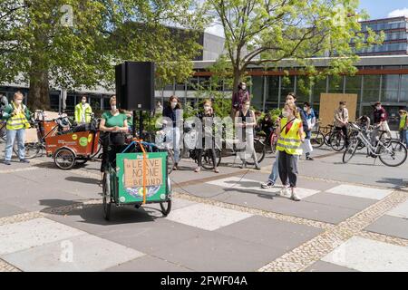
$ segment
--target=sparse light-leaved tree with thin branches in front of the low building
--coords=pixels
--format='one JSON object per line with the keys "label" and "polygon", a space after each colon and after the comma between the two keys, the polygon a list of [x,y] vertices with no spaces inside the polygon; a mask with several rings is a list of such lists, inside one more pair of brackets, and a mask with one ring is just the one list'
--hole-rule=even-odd
{"label": "sparse light-leaved tree with thin branches in front of the low building", "polygon": [[[381,43],[384,35],[359,33],[358,0],[208,0],[206,9],[222,25],[237,91],[250,64],[277,66],[283,59],[316,78],[355,73],[355,50]],[[312,57],[330,56],[317,71]]]}

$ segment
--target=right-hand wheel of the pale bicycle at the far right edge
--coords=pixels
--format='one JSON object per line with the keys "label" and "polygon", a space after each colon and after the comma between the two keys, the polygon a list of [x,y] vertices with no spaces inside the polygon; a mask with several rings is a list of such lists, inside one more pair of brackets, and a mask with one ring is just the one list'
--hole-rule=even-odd
{"label": "right-hand wheel of the pale bicycle at the far right edge", "polygon": [[389,140],[386,144],[381,146],[379,158],[386,166],[400,166],[407,158],[406,147],[401,141]]}

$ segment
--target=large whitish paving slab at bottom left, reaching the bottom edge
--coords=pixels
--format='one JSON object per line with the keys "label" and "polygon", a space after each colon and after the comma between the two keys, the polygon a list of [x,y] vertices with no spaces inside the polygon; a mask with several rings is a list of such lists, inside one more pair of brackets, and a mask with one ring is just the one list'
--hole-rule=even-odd
{"label": "large whitish paving slab at bottom left, reaching the bottom edge", "polygon": [[101,237],[84,234],[3,256],[25,272],[94,272],[144,254]]}

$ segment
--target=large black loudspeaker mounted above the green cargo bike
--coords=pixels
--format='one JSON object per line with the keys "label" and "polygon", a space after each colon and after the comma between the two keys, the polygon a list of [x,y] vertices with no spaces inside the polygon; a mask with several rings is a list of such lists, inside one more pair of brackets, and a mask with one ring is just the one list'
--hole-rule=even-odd
{"label": "large black loudspeaker mounted above the green cargo bike", "polygon": [[128,111],[154,110],[154,63],[125,62],[116,65],[116,101]]}

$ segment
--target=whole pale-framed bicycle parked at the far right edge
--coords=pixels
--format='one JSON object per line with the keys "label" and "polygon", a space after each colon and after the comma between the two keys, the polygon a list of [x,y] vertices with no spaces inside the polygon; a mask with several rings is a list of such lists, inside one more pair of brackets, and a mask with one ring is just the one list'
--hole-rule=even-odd
{"label": "whole pale-framed bicycle parked at the far right edge", "polygon": [[[367,157],[379,158],[385,166],[397,167],[402,165],[407,159],[407,149],[401,141],[388,140],[383,142],[383,140],[378,139],[374,146],[369,140],[368,131],[364,131],[355,123],[351,123],[350,126],[353,127],[355,131],[358,131],[358,134],[354,140],[350,141],[349,146],[345,150],[343,163],[349,162],[355,156],[355,152],[358,150],[360,143],[363,143],[367,149]],[[401,156],[398,155],[400,153]],[[395,162],[393,163],[393,161]]]}

